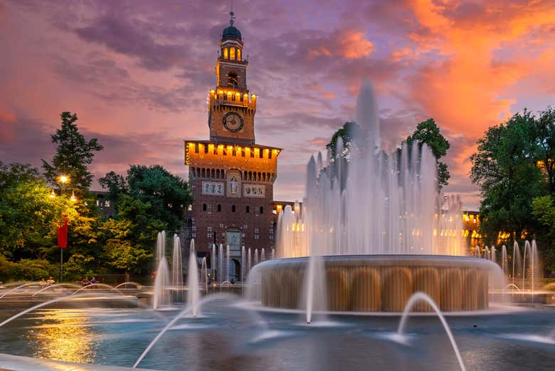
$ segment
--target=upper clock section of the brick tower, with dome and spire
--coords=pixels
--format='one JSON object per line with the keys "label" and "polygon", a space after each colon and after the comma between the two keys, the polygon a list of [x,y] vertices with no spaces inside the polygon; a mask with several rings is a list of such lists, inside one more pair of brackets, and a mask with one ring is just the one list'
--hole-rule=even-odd
{"label": "upper clock section of the brick tower, with dome and spire", "polygon": [[233,26],[233,12],[229,23],[220,40],[216,89],[210,90],[208,98],[210,140],[252,145],[256,95],[249,94],[247,88],[248,60],[243,58],[244,44]]}

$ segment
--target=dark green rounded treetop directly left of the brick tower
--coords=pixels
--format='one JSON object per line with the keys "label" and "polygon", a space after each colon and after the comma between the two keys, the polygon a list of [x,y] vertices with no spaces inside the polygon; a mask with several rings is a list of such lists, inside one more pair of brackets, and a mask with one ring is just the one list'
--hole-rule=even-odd
{"label": "dark green rounded treetop directly left of the brick tower", "polygon": [[184,212],[192,202],[189,184],[159,165],[132,165],[125,178],[109,172],[98,182],[108,189],[109,197],[117,201],[118,210],[122,204],[120,197],[127,195],[149,204],[149,213],[171,231],[177,231],[182,226]]}

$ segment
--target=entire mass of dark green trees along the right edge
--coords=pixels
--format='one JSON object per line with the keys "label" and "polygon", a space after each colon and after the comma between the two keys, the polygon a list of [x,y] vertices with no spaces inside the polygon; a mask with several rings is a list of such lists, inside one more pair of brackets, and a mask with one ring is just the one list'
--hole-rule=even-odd
{"label": "entire mass of dark green trees along the right edge", "polygon": [[[470,179],[480,186],[481,229],[487,244],[500,231],[510,239],[536,238],[545,254],[552,249],[555,111],[524,110],[490,127],[477,141]],[[555,263],[555,261],[551,262]]]}

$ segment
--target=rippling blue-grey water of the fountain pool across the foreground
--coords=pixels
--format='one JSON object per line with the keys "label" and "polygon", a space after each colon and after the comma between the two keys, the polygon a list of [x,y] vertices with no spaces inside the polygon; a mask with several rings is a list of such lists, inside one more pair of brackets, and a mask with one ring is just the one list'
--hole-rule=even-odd
{"label": "rippling blue-grey water of the fountain pool across the foreground", "polygon": [[[180,318],[138,367],[155,370],[460,370],[435,315],[329,315],[306,325],[300,313],[253,313],[238,298],[203,304]],[[5,320],[13,311],[0,312]],[[132,367],[177,314],[147,309],[36,310],[0,328],[0,352]],[[549,370],[555,308],[446,318],[467,370]],[[519,335],[515,335],[519,334]],[[542,335],[544,334],[544,336]],[[532,339],[532,340],[531,340]],[[0,355],[0,365],[2,357]]]}

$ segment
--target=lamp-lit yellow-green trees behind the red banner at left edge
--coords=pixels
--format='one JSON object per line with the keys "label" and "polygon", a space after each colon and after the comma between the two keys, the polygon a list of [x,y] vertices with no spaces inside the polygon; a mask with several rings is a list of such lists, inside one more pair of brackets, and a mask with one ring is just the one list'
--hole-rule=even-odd
{"label": "lamp-lit yellow-green trees behind the red banner at left edge", "polygon": [[0,162],[0,183],[0,254],[16,263],[46,259],[57,264],[58,225],[65,214],[68,248],[64,257],[71,260],[73,254],[81,254],[102,266],[100,221],[95,210],[85,204],[87,200],[73,202],[68,194],[53,194],[37,169],[29,165]]}

